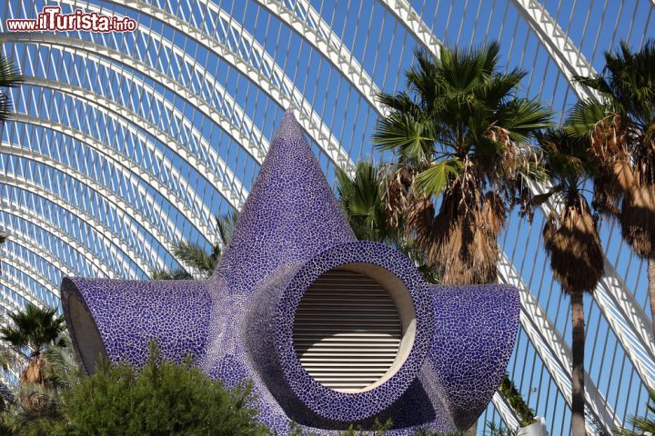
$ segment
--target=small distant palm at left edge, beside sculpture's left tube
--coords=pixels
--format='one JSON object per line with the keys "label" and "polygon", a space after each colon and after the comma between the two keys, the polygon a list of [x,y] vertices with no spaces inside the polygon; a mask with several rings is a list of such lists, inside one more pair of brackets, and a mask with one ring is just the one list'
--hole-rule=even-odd
{"label": "small distant palm at left edge, beside sculpture's left tube", "polygon": [[9,313],[8,317],[11,324],[0,328],[0,338],[27,361],[20,381],[43,383],[48,364],[43,352],[52,346],[67,346],[64,317],[56,316],[56,309],[41,309],[31,303],[23,312]]}

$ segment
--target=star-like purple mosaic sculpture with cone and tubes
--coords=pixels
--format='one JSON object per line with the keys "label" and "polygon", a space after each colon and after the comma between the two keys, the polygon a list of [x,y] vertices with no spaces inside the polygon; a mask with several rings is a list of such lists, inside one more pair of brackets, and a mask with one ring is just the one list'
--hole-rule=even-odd
{"label": "star-like purple mosaic sculpture with cone and tubes", "polygon": [[[324,386],[294,350],[300,301],[337,267],[396,283],[414,316],[398,368],[366,390]],[[393,421],[391,435],[467,428],[496,391],[519,326],[514,288],[429,285],[403,254],[357,241],[290,112],[210,279],[65,278],[61,293],[87,371],[98,353],[141,365],[155,339],[163,357],[192,354],[228,386],[252,381],[259,419],[280,434],[292,421],[333,434],[376,418]]]}

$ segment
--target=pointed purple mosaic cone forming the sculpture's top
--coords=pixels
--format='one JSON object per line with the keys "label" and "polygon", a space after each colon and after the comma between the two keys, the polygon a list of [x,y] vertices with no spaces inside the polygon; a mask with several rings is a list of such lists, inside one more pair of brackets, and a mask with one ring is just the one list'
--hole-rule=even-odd
{"label": "pointed purple mosaic cone forming the sculpture's top", "polygon": [[354,241],[300,124],[287,110],[215,275],[254,289],[279,266]]}

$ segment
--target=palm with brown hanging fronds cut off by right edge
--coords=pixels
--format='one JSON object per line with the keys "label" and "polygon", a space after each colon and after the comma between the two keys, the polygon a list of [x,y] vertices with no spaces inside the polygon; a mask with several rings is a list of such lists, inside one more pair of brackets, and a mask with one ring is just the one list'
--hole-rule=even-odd
{"label": "palm with brown hanging fronds cut off by right edge", "polygon": [[576,104],[567,130],[589,142],[600,169],[594,207],[617,219],[632,251],[648,260],[655,315],[655,41],[638,53],[621,43],[616,52],[606,52],[605,63],[602,74],[576,77],[598,91],[602,102]]}

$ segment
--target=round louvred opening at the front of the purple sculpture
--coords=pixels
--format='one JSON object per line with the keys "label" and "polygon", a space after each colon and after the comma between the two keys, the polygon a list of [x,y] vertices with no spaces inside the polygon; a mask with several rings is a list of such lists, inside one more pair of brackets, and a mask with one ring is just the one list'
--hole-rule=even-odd
{"label": "round louvred opening at the front of the purple sculpture", "polygon": [[342,392],[371,390],[407,360],[416,312],[407,286],[371,263],[348,263],[318,276],[294,320],[294,349],[309,375]]}

